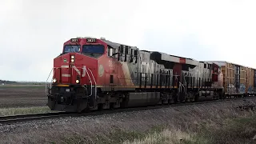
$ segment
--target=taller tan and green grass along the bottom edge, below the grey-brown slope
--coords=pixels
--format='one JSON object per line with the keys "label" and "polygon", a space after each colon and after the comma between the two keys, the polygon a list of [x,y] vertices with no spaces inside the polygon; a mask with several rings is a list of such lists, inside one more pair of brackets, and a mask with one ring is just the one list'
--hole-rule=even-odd
{"label": "taller tan and green grass along the bottom edge, below the grey-brown slope", "polygon": [[[144,132],[138,130],[111,130],[109,134],[86,138],[82,134],[71,134],[63,143],[94,144],[240,144],[256,143],[256,114],[246,118],[226,119],[223,123],[202,122],[200,128],[182,130],[177,127],[153,126]],[[53,142],[55,143],[55,142]]]}

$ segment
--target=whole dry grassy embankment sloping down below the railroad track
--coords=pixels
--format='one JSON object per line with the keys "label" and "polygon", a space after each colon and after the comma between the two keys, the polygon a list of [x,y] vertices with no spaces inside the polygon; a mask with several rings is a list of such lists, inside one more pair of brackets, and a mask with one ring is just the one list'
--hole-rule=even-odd
{"label": "whole dry grassy embankment sloping down below the railroad track", "polygon": [[[255,102],[256,98],[249,103]],[[218,102],[62,119],[39,127],[23,126],[0,139],[3,143],[255,143],[255,111],[237,109],[246,103]]]}

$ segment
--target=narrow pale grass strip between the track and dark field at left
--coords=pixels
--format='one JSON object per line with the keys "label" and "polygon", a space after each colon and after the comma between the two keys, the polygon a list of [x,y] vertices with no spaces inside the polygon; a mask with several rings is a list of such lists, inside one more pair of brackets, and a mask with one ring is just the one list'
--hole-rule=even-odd
{"label": "narrow pale grass strip between the track and dark field at left", "polygon": [[34,107],[15,107],[0,109],[1,116],[18,115],[18,114],[37,114],[53,112],[48,106],[34,106]]}

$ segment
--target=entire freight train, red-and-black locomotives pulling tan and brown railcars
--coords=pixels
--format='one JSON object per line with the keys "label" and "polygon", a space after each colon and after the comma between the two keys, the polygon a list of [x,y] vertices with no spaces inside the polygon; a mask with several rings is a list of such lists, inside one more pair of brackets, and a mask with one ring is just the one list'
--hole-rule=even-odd
{"label": "entire freight train, red-and-black locomotives pulling tan and brown railcars", "polygon": [[51,110],[84,112],[254,95],[256,70],[139,50],[106,38],[70,38],[54,58]]}

